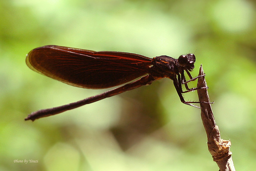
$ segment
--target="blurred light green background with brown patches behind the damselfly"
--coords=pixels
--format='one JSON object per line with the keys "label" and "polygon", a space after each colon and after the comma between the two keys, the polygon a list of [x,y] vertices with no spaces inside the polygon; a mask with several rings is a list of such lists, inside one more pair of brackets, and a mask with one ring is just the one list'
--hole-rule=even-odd
{"label": "blurred light green background with brown patches behind the damselfly", "polygon": [[[200,110],[184,105],[172,81],[65,113],[31,112],[104,90],[72,87],[30,70],[26,54],[54,44],[148,57],[195,53],[203,64],[221,138],[236,170],[256,167],[255,1],[0,1],[0,170],[215,170]],[[194,86],[190,84],[190,86]],[[186,100],[198,100],[196,92]],[[38,160],[15,163],[14,160]]]}

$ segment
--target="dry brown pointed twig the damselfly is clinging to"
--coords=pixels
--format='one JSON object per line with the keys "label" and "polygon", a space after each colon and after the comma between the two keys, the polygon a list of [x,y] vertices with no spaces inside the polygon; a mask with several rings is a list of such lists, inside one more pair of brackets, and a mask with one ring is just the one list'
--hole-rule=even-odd
{"label": "dry brown pointed twig the damselfly is clinging to", "polygon": [[[197,87],[207,87],[202,65],[199,69],[199,75],[202,77],[198,78]],[[217,163],[220,171],[235,171],[232,153],[229,151],[231,142],[220,138],[220,130],[214,120],[208,91],[205,88],[197,89],[197,94],[200,102],[207,102],[200,103],[201,118],[207,135],[208,150],[212,154],[213,161]]]}

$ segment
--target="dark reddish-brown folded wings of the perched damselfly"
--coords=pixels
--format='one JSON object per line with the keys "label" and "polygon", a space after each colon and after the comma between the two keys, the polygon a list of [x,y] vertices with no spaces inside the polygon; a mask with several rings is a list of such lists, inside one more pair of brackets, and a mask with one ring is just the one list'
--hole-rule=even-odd
{"label": "dark reddish-brown folded wings of the perched damselfly", "polygon": [[68,85],[100,89],[147,74],[152,59],[133,53],[48,45],[30,51],[26,63],[32,70]]}

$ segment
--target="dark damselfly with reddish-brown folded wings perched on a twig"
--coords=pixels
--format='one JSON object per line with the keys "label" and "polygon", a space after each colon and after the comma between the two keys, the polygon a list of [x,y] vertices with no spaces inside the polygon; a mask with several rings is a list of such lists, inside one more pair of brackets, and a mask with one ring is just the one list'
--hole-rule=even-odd
{"label": "dark damselfly with reddish-brown folded wings perched on a twig", "polygon": [[[195,61],[196,57],[191,53],[181,55],[178,59],[169,56],[156,56],[152,59],[133,53],[96,52],[55,45],[35,48],[26,57],[28,67],[68,85],[90,89],[103,89],[122,85],[139,77],[141,78],[84,100],[55,108],[38,110],[28,115],[25,120],[34,121],[41,117],[56,115],[138,88],[142,85],[150,85],[152,81],[161,78],[172,79],[181,102],[194,106],[191,103],[199,102],[185,101],[182,93],[196,90],[196,88],[189,89],[187,85],[189,81],[198,78],[192,78],[189,73],[189,71],[194,69]],[[190,78],[189,81],[186,81],[184,71],[187,72]],[[185,85],[186,91],[182,90],[182,84]],[[194,107],[199,108],[197,106]]]}

